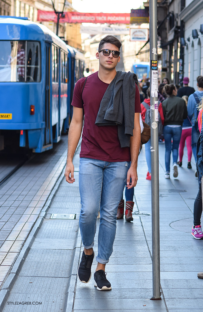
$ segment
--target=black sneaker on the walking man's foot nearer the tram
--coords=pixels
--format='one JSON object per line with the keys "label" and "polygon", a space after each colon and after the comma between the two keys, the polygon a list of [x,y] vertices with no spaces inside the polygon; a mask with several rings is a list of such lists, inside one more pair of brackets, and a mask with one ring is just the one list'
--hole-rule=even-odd
{"label": "black sneaker on the walking man's foot nearer the tram", "polygon": [[95,253],[93,251],[92,255],[85,255],[84,251],[82,253],[81,263],[77,270],[77,276],[82,283],[88,283],[91,278],[91,266],[94,259]]}

